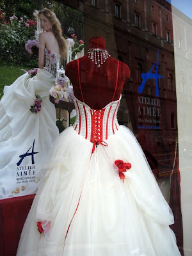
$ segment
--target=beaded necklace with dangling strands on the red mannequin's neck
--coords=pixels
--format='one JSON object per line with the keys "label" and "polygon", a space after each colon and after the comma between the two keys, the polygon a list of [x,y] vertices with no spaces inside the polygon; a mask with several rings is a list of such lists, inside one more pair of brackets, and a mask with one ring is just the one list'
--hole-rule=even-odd
{"label": "beaded necklace with dangling strands on the red mannequin's neck", "polygon": [[91,48],[88,49],[88,58],[90,58],[92,61],[95,61],[95,65],[100,68],[100,65],[102,65],[106,60],[110,57],[108,50],[106,49],[100,49],[100,48]]}

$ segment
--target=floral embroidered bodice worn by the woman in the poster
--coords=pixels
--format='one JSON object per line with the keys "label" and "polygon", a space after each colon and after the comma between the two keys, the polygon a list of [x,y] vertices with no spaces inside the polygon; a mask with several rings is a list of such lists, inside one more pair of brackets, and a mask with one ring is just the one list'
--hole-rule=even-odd
{"label": "floral embroidered bodice worn by the woman in the poster", "polygon": [[58,61],[61,61],[61,55],[45,48],[45,70],[53,76],[56,76],[56,65]]}

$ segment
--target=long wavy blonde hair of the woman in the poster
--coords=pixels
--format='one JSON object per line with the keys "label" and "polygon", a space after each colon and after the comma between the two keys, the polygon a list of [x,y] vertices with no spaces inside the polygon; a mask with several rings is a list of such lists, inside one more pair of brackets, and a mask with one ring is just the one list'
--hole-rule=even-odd
{"label": "long wavy blonde hair of the woman in the poster", "polygon": [[36,13],[37,18],[39,18],[40,14],[43,14],[49,20],[49,22],[51,22],[51,24],[52,24],[51,31],[54,34],[56,40],[58,41],[61,59],[65,60],[66,55],[67,55],[67,44],[66,44],[65,38],[63,38],[63,36],[62,36],[60,20],[58,20],[58,18],[56,17],[54,12],[51,12],[47,8],[44,8],[44,9],[38,11],[38,13]]}

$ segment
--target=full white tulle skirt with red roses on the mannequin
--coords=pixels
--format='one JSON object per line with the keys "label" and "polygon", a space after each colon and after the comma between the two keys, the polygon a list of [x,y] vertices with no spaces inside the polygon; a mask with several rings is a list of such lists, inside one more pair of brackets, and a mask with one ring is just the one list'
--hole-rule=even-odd
{"label": "full white tulle skirt with red roses on the mannequin", "polygon": [[[177,256],[173,215],[127,127],[99,145],[72,127],[55,141],[17,256]],[[114,162],[131,163],[123,182]],[[40,234],[37,221],[44,221]]]}

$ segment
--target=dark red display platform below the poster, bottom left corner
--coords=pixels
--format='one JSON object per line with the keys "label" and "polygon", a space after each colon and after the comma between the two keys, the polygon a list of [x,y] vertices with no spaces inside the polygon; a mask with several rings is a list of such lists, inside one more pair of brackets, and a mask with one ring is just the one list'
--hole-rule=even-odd
{"label": "dark red display platform below the poster, bottom left corner", "polygon": [[35,195],[0,200],[0,256],[15,256]]}

